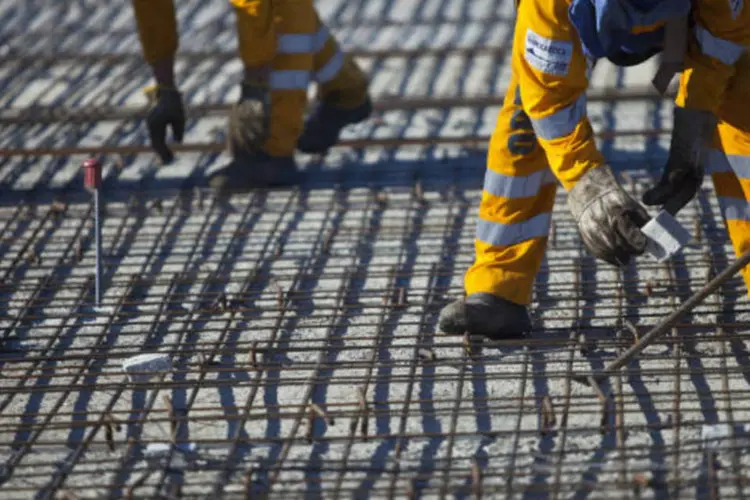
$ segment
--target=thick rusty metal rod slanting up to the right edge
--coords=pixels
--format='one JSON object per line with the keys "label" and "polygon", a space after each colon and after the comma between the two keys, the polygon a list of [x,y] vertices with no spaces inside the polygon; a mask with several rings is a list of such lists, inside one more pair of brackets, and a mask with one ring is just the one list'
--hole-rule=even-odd
{"label": "thick rusty metal rod slanting up to the right edge", "polygon": [[672,326],[686,313],[690,312],[696,306],[700,305],[706,297],[711,295],[717,288],[719,288],[725,281],[732,278],[734,275],[742,271],[750,264],[750,250],[742,254],[734,264],[726,268],[724,271],[719,273],[714,279],[709,281],[706,286],[695,292],[688,300],[682,303],[680,307],[672,311],[672,313],[664,318],[664,320],[652,328],[647,334],[641,337],[641,340],[631,346],[627,351],[622,353],[620,356],[615,358],[609,365],[605,366],[604,369],[597,373],[594,378],[596,381],[601,381],[607,377],[607,375],[614,373],[621,367],[625,366],[631,359],[640,354],[646,347],[651,345],[656,339],[664,335],[669,331]]}

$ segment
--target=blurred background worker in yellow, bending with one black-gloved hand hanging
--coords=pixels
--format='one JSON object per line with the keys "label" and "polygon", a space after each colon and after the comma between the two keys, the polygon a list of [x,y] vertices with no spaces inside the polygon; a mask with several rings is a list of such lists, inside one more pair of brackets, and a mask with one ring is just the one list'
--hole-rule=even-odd
{"label": "blurred background worker in yellow, bending with one black-gloved hand hanging", "polygon": [[[228,142],[233,156],[209,183],[218,192],[286,185],[299,180],[294,151],[323,154],[341,130],[372,113],[367,78],[341,52],[321,23],[313,0],[230,0],[244,63],[240,102],[233,106]],[[185,114],[174,78],[178,48],[173,0],[132,0],[143,54],[156,80],[147,122],[152,147],[164,163],[170,127],[182,140]],[[308,85],[318,105],[304,123]]]}

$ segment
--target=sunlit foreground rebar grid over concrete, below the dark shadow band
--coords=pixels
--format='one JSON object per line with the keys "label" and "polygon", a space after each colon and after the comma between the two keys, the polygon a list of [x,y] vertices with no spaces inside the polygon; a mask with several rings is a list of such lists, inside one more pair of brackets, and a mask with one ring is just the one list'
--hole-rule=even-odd
{"label": "sunlit foreground rebar grid over concrete, below the dark shadow band", "polygon": [[[435,335],[472,255],[480,192],[461,174],[441,191],[418,181],[206,196],[202,208],[184,195],[114,201],[101,311],[89,306],[91,204],[0,209],[2,489],[446,496],[479,491],[471,477],[490,496],[703,487],[686,472],[704,456],[702,426],[750,411],[741,282],[615,377],[611,401],[570,377],[601,368],[726,265],[712,196],[681,214],[700,243],[666,267],[622,272],[594,262],[558,209],[532,338],[478,348]],[[128,382],[121,362],[157,350],[172,372]],[[169,442],[169,460],[145,460]],[[742,447],[712,472],[721,498],[745,484]],[[94,471],[107,478],[96,488]]]}

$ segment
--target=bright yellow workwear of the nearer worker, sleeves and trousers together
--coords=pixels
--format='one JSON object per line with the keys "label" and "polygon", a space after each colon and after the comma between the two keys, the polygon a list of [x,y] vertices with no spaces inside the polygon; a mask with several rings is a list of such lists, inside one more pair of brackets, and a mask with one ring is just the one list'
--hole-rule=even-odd
{"label": "bright yellow workwear of the nearer worker, sleeves and trousers together", "polygon": [[[528,304],[558,181],[569,191],[604,164],[586,116],[590,67],[568,4],[518,4],[512,76],[489,145],[467,295],[485,292]],[[739,253],[750,248],[750,8],[733,14],[728,0],[696,5],[697,39],[677,104],[716,110],[722,120],[710,168]],[[745,279],[750,285],[750,271]]]}

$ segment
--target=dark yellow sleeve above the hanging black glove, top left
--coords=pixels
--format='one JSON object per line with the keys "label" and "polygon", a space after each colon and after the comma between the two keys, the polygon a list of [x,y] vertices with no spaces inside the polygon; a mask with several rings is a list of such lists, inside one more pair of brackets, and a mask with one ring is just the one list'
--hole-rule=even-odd
{"label": "dark yellow sleeve above the hanging black glove, top left", "polygon": [[146,62],[173,58],[177,53],[177,19],[173,0],[132,0],[138,37]]}

